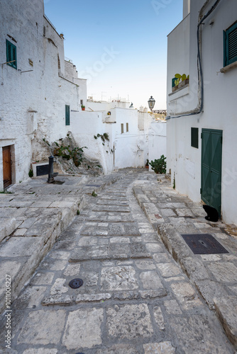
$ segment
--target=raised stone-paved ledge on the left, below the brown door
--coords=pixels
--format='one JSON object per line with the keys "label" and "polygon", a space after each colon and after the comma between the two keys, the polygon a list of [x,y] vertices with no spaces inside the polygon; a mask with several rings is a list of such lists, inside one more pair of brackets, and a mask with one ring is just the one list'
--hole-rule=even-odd
{"label": "raised stone-paved ledge on the left, below the brown door", "polygon": [[[9,264],[11,269],[11,264],[17,261],[18,269],[12,278],[12,300],[31,278],[57,237],[75,218],[77,210],[83,209],[88,191],[90,194],[94,190],[99,192],[127,173],[130,170],[99,177],[97,187],[92,185],[84,190],[83,183],[88,180],[85,176],[57,176],[65,182],[62,185],[48,184],[47,178],[38,177],[11,186],[9,194],[0,194],[0,262]],[[89,181],[93,182],[94,178]],[[0,312],[4,307],[4,292],[1,291]]]}

